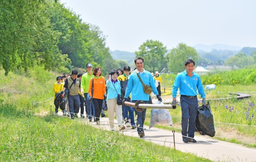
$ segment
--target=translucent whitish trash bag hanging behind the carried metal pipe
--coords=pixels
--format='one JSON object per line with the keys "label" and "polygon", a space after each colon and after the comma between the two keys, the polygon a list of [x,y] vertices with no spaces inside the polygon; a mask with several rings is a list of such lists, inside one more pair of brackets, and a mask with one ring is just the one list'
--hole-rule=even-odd
{"label": "translucent whitish trash bag hanging behind the carried metal pipe", "polygon": [[[155,104],[163,104],[157,101]],[[151,118],[149,129],[154,127],[154,125],[169,124],[172,125],[172,117],[168,109],[151,109]]]}

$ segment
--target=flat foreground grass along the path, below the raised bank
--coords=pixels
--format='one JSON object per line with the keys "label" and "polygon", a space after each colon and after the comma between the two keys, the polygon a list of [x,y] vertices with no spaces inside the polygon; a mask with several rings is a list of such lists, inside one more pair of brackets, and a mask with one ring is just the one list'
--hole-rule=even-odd
{"label": "flat foreground grass along the path, below the raised bank", "polygon": [[79,119],[37,117],[12,106],[0,106],[0,161],[209,161]]}

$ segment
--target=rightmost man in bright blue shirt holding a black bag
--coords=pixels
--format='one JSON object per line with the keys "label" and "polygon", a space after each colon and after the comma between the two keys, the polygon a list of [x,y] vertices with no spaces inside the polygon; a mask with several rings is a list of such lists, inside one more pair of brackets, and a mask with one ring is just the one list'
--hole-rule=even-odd
{"label": "rightmost man in bright blue shirt holding a black bag", "polygon": [[[197,116],[199,93],[203,98],[202,104],[206,104],[204,88],[198,74],[194,72],[195,62],[188,59],[185,62],[186,70],[177,75],[172,86],[172,105],[176,105],[176,95],[178,88],[180,88],[180,104],[181,104],[181,134],[183,142],[193,142],[195,134],[195,119]],[[198,93],[197,93],[198,90]],[[189,137],[189,138],[188,138]]]}

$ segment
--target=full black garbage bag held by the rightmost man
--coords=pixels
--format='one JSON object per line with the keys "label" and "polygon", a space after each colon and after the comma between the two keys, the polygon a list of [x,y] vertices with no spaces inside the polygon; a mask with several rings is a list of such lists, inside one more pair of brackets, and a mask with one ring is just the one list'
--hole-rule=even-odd
{"label": "full black garbage bag held by the rightmost man", "polygon": [[213,115],[209,102],[198,107],[198,114],[195,120],[195,131],[201,135],[215,136]]}

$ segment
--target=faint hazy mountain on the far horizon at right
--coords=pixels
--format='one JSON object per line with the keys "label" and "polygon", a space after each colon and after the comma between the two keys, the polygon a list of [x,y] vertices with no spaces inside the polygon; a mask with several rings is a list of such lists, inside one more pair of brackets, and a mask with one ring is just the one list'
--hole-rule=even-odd
{"label": "faint hazy mountain on the far horizon at right", "polygon": [[213,49],[216,50],[230,50],[230,51],[239,51],[242,47],[224,45],[224,44],[213,44],[213,45],[204,45],[204,44],[196,44],[193,46],[196,50],[203,50],[206,52],[210,52]]}

